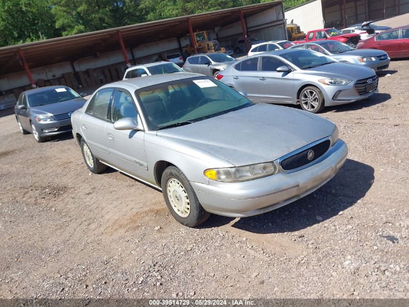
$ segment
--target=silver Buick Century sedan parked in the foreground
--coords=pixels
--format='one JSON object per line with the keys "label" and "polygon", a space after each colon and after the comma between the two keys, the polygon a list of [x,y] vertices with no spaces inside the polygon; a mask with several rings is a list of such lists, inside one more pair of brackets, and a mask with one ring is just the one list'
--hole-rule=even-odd
{"label": "silver Buick Century sedan parked in the foreground", "polygon": [[332,122],[252,103],[193,73],[106,84],[72,125],[91,172],[110,166],[162,190],[174,218],[191,227],[210,213],[251,216],[312,193],[348,153]]}

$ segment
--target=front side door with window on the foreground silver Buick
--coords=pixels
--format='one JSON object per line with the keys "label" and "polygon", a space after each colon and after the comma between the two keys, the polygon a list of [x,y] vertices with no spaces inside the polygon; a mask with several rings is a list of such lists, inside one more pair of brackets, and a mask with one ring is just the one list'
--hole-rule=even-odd
{"label": "front side door with window on the foreground silver Buick", "polygon": [[112,103],[111,122],[106,123],[105,130],[110,161],[113,166],[145,180],[148,177],[145,131],[114,129],[114,122],[124,117],[138,120],[131,95],[117,90]]}

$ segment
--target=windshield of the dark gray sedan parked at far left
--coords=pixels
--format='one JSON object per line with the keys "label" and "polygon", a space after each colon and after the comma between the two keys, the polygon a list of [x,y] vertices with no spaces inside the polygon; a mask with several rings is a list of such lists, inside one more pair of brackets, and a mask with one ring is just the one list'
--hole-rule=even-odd
{"label": "windshield of the dark gray sedan parked at far left", "polygon": [[52,88],[27,95],[30,107],[44,106],[78,97],[80,96],[69,87]]}

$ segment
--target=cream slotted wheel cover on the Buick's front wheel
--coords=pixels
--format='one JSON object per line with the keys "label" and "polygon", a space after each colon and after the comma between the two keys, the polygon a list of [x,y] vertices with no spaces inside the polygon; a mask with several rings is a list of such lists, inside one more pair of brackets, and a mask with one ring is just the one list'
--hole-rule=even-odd
{"label": "cream slotted wheel cover on the Buick's front wheel", "polygon": [[185,188],[177,179],[171,178],[166,185],[167,198],[172,209],[181,217],[187,217],[190,213],[189,196]]}

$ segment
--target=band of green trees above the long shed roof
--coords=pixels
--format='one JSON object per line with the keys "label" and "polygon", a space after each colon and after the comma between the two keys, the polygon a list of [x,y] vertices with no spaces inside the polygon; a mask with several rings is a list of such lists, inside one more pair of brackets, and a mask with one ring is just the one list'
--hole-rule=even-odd
{"label": "band of green trees above the long shed roof", "polygon": [[[269,0],[1,0],[0,47]],[[284,9],[307,0],[284,0]]]}

